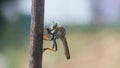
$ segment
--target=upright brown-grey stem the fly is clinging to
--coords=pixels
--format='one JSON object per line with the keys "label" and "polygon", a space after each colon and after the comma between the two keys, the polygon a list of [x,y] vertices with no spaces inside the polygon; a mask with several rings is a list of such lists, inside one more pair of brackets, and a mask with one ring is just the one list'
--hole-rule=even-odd
{"label": "upright brown-grey stem the fly is clinging to", "polygon": [[42,68],[43,29],[44,0],[32,0],[29,68]]}

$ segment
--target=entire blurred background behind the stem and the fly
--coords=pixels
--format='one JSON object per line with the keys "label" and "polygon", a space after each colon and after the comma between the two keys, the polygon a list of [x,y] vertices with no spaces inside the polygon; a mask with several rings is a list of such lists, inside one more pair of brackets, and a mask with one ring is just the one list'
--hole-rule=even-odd
{"label": "entire blurred background behind the stem and the fly", "polygon": [[[63,46],[43,54],[43,68],[120,68],[120,1],[45,1],[45,27],[55,21],[67,31],[71,59]],[[63,8],[64,7],[64,8]],[[28,68],[31,0],[0,1],[0,68]],[[44,41],[44,47],[51,47]]]}

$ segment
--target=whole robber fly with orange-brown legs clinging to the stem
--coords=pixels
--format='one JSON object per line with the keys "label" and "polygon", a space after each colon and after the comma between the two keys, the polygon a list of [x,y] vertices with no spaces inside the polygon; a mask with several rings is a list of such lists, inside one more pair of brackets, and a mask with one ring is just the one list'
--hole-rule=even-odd
{"label": "whole robber fly with orange-brown legs clinging to the stem", "polygon": [[56,39],[61,39],[64,46],[64,52],[67,59],[70,59],[70,53],[68,48],[68,43],[66,40],[66,31],[65,28],[57,23],[52,23],[49,28],[47,28],[47,33],[43,35],[44,40],[52,41],[52,48],[44,48],[43,51],[50,50],[50,51],[57,51],[57,43]]}

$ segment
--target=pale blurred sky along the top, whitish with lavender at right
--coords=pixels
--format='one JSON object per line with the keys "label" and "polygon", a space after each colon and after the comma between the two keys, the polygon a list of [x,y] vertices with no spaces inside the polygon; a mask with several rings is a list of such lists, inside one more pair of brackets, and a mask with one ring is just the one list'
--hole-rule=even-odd
{"label": "pale blurred sky along the top, whitish with lavender at right", "polygon": [[[31,1],[6,3],[3,7],[5,18],[15,22],[19,19],[18,12],[31,15]],[[120,0],[45,0],[45,23],[88,24],[97,20],[94,17],[107,23],[120,21]]]}

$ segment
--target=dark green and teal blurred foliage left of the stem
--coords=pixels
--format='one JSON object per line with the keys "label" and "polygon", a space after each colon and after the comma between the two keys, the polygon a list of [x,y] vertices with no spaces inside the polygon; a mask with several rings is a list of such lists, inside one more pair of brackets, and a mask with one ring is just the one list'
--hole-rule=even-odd
{"label": "dark green and teal blurred foliage left of the stem", "polygon": [[6,46],[19,46],[18,44],[23,44],[26,36],[29,35],[30,16],[18,12],[19,19],[15,22],[10,22],[3,14],[4,11],[2,9],[5,8],[5,4],[15,1],[0,0],[0,50],[3,50]]}

